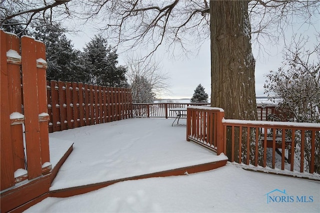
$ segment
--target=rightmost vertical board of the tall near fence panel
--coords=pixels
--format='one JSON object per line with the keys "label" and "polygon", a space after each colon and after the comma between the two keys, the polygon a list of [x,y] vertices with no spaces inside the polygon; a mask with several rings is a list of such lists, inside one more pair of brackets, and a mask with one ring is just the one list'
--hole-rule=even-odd
{"label": "rightmost vertical board of the tall near fence panel", "polygon": [[[37,89],[38,89],[38,111],[47,114],[47,98],[46,98],[46,62],[45,46],[42,42],[36,42],[36,59],[37,61]],[[49,156],[49,132],[48,121],[39,122],[40,128],[40,150],[41,164],[50,161]]]}

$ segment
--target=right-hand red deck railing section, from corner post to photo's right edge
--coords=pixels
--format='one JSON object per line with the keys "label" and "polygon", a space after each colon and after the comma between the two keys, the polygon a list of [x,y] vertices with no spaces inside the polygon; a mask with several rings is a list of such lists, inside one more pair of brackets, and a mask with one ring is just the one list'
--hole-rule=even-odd
{"label": "right-hand red deck railing section, from corner post to photo's right edge", "polygon": [[[276,168],[276,155],[280,154],[281,170],[320,172],[320,124],[231,119],[223,119],[222,124],[224,150],[230,151],[231,162]],[[276,149],[281,151],[276,153]]]}

